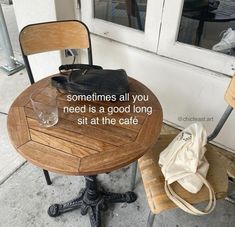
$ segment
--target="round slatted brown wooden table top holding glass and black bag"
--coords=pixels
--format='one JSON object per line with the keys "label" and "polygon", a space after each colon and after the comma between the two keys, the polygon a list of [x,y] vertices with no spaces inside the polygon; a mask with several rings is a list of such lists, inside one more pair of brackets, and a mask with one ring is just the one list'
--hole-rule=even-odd
{"label": "round slatted brown wooden table top holding glass and black bag", "polygon": [[[68,175],[94,175],[110,172],[140,158],[155,143],[162,126],[162,109],[154,94],[140,82],[129,78],[130,97],[148,95],[136,106],[152,106],[147,113],[65,113],[64,106],[128,106],[125,102],[68,102],[58,93],[59,121],[50,128],[40,126],[29,99],[35,89],[54,89],[50,77],[31,85],[12,104],[8,114],[8,133],[16,150],[29,162],[52,172]],[[136,116],[138,124],[78,125],[79,117],[113,117],[117,121]]]}

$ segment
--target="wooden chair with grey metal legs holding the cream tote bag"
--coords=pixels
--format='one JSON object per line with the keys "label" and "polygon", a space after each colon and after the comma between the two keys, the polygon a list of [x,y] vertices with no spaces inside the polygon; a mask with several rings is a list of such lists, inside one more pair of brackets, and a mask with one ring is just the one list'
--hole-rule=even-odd
{"label": "wooden chair with grey metal legs holding the cream tote bag", "polygon": [[[216,126],[213,133],[208,137],[208,142],[213,140],[223,127],[225,121],[228,119],[233,108],[235,108],[235,76],[225,94],[225,100],[229,104],[224,112],[221,120]],[[163,151],[168,144],[175,138],[175,132],[163,133],[160,138],[143,157],[138,161],[140,172],[147,195],[148,204],[150,207],[150,214],[148,217],[147,226],[153,225],[154,217],[156,214],[164,210],[175,208],[176,205],[167,197],[164,190],[164,176],[158,165],[159,154]],[[210,168],[207,174],[207,179],[214,188],[216,198],[222,199],[227,195],[228,189],[228,176],[235,176],[235,163],[234,159],[231,161],[227,156],[223,155],[223,150],[213,145],[207,145],[206,158],[210,163]],[[228,168],[228,169],[227,169]],[[208,191],[205,186],[197,194],[191,194],[183,189],[177,182],[172,184],[173,189],[182,198],[192,204],[201,203],[208,200]]]}

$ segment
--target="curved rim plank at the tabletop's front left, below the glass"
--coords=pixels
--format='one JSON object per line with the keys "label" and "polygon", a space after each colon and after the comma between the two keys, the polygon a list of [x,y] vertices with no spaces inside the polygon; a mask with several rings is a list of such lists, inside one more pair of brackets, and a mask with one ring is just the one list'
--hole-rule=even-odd
{"label": "curved rim plank at the tabletop's front left, below the glass", "polygon": [[79,175],[80,158],[34,141],[18,148],[28,161],[56,173]]}

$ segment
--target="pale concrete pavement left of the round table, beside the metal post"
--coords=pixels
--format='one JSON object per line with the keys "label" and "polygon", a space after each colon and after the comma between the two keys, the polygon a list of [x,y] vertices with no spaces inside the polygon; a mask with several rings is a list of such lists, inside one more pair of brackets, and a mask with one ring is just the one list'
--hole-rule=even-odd
{"label": "pale concrete pavement left of the round table, beside the metal post", "polygon": [[[17,59],[21,60],[18,29],[13,5],[2,4],[9,36]],[[0,65],[4,65],[4,52],[0,49]],[[0,70],[0,183],[9,177],[25,160],[15,152],[7,134],[7,113],[14,99],[29,86],[27,73],[21,70],[11,76]]]}

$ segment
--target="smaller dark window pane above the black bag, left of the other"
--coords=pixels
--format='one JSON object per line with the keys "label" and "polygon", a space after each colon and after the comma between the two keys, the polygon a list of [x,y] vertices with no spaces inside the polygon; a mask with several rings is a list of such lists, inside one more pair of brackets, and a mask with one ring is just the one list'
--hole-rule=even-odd
{"label": "smaller dark window pane above the black bag, left of the other", "polygon": [[94,17],[144,31],[147,0],[94,0]]}

